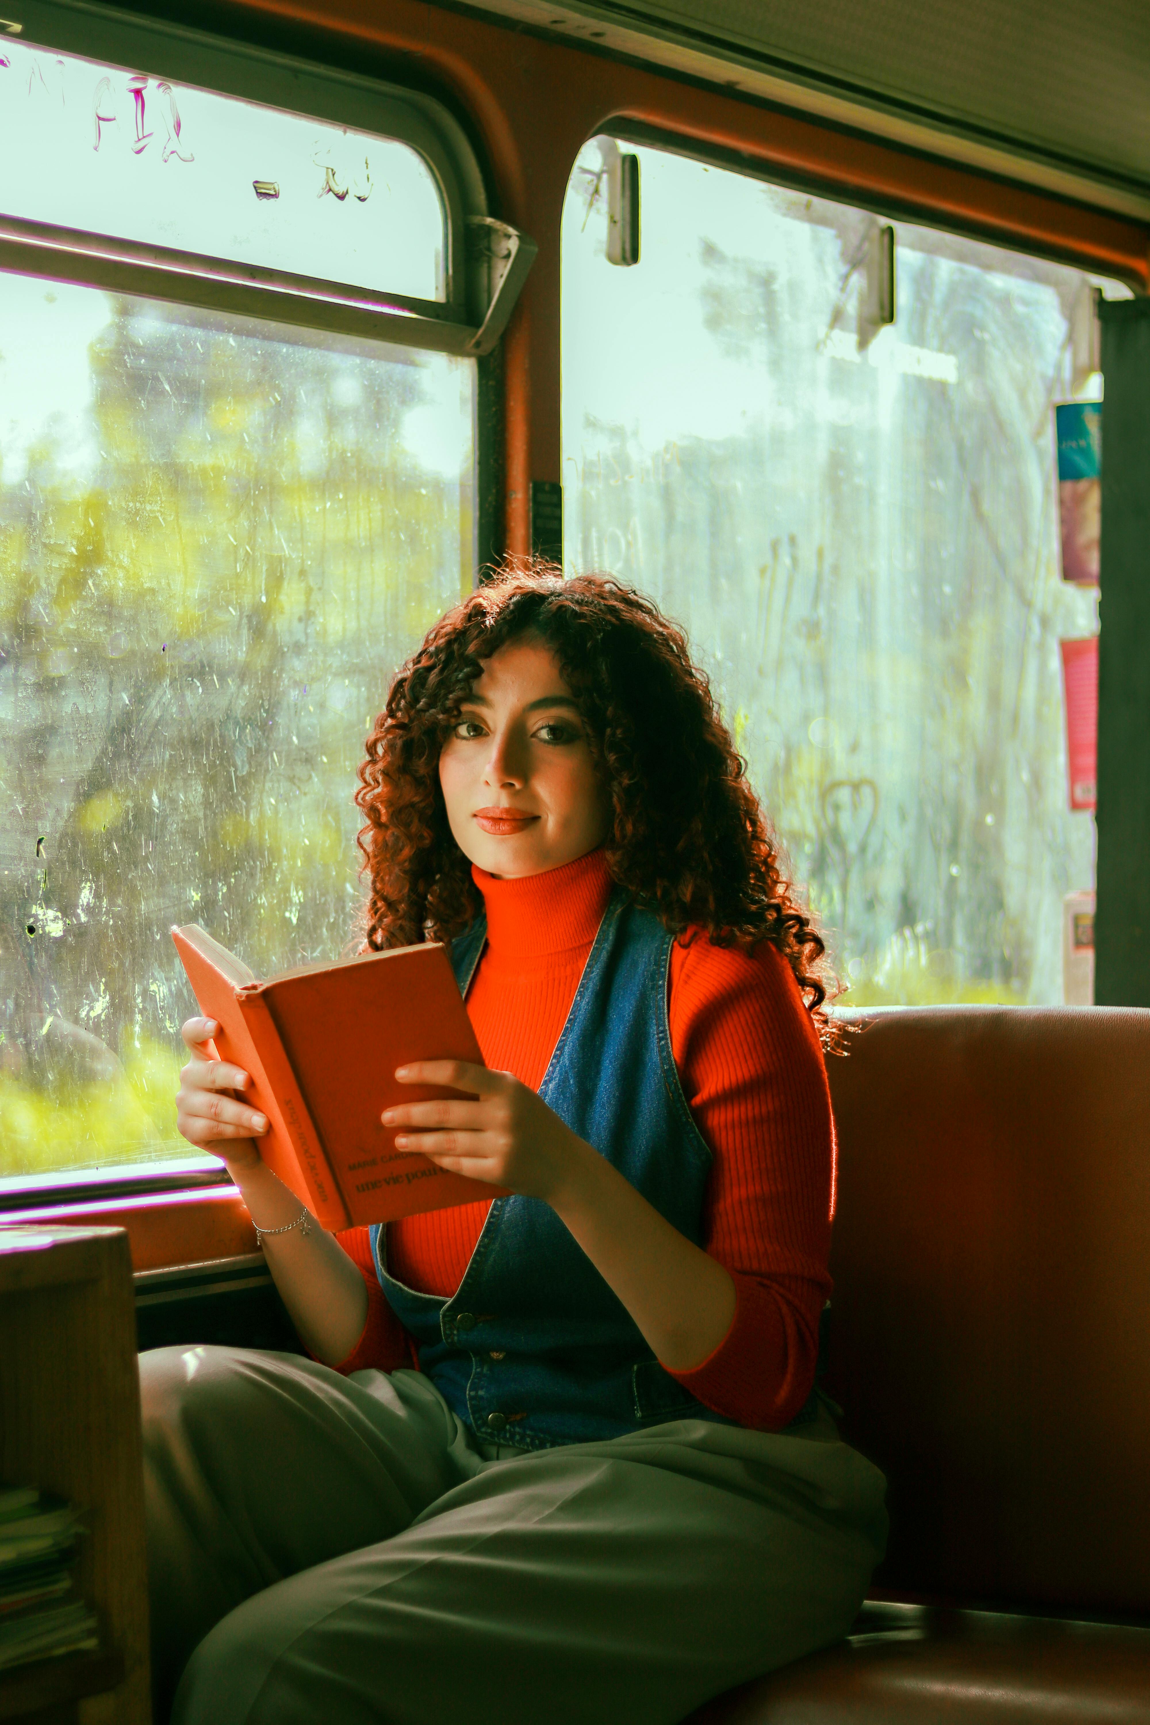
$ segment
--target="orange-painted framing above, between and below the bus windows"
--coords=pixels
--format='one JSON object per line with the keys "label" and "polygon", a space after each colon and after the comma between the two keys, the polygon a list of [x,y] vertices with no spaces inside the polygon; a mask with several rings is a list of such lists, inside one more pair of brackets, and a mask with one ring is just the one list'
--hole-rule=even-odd
{"label": "orange-painted framing above, between and below the bus windows", "polygon": [[[502,343],[503,542],[531,549],[529,483],[560,480],[560,223],[588,138],[628,124],[719,155],[764,178],[997,240],[1150,286],[1150,226],[941,157],[833,128],[800,112],[681,79],[590,47],[557,41],[422,0],[231,0],[236,34],[310,57],[364,53],[402,83],[424,85],[464,117],[490,172],[495,214],[538,242],[536,264]],[[255,1251],[229,1185],[22,1209],[14,1220],[128,1228],[136,1270]]]}

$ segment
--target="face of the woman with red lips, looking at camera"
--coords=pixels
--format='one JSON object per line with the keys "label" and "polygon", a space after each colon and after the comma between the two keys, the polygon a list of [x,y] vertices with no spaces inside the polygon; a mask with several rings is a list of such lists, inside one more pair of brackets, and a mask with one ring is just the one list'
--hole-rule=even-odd
{"label": "face of the woman with red lips, looking at camera", "polygon": [[440,785],[459,849],[490,875],[541,875],[603,842],[610,799],[550,647],[524,637],[484,661]]}

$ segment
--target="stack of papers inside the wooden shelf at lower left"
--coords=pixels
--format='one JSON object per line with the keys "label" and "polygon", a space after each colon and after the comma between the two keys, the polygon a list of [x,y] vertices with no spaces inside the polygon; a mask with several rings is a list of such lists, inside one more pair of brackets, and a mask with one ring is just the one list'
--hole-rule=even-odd
{"label": "stack of papers inside the wooden shelf at lower left", "polygon": [[69,1568],[78,1516],[31,1485],[0,1487],[0,1670],[98,1646]]}

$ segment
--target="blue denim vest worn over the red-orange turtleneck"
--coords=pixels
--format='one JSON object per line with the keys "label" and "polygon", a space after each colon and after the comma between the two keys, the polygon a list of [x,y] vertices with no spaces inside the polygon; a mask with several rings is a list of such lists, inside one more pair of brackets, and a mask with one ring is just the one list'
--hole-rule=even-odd
{"label": "blue denim vest worn over the red-orange turtleneck", "polygon": [[[710,1151],[671,1054],[672,938],[650,911],[612,897],[540,1095],[700,1244]],[[462,994],[484,940],[481,918],[452,945]],[[372,1228],[371,1240],[379,1283],[416,1342],[421,1371],[478,1437],[548,1449],[666,1420],[738,1423],[664,1371],[622,1301],[541,1199],[495,1199],[450,1299],[395,1282],[386,1228]]]}

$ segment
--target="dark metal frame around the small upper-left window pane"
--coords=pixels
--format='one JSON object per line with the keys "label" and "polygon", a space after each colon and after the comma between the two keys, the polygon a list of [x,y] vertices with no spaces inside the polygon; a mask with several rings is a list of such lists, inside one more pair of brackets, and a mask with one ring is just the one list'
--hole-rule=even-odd
{"label": "dark metal frame around the small upper-left window pane", "polygon": [[534,243],[491,217],[464,128],[429,95],[83,0],[24,0],[17,40],[405,143],[445,216],[443,300],[357,288],[100,233],[0,216],[0,269],[295,328],[478,357],[510,316]]}

